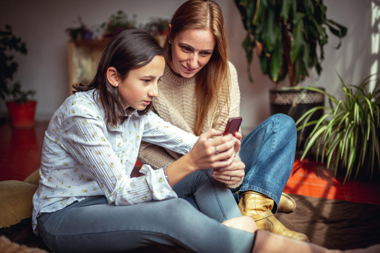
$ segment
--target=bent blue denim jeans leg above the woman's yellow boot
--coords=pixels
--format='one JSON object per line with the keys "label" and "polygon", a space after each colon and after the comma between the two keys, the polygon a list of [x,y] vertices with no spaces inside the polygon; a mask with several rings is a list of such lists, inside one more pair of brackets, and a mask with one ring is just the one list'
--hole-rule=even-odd
{"label": "bent blue denim jeans leg above the woman's yellow boot", "polygon": [[296,141],[296,124],[285,114],[272,115],[244,137],[239,155],[245,164],[245,177],[239,193],[261,192],[274,200],[272,212],[277,212],[293,168]]}

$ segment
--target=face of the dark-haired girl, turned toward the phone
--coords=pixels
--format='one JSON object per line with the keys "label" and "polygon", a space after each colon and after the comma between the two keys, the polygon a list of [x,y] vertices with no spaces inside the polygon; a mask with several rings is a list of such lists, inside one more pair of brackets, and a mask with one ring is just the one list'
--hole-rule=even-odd
{"label": "face of the dark-haired girl, turned toward the phone", "polygon": [[164,74],[165,59],[156,55],[141,68],[132,69],[128,77],[117,87],[123,108],[133,107],[144,110],[157,97],[157,84]]}

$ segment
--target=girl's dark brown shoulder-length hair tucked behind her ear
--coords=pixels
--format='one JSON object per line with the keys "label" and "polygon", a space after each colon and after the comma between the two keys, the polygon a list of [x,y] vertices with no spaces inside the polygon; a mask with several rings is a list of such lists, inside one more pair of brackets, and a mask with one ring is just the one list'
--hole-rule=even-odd
{"label": "girl's dark brown shoulder-length hair tucked behind her ear", "polygon": [[[128,116],[126,113],[135,109],[123,109],[119,102],[117,88],[112,86],[106,77],[109,67],[114,67],[123,80],[128,77],[131,69],[140,68],[148,64],[156,55],[165,57],[165,52],[157,41],[143,30],[123,30],[117,33],[106,45],[101,55],[95,77],[89,85],[79,83],[73,85],[75,91],[89,91],[95,89],[94,99],[100,100],[105,112],[106,124],[117,125],[123,123]],[[144,115],[150,110],[150,103],[144,110],[138,111]]]}

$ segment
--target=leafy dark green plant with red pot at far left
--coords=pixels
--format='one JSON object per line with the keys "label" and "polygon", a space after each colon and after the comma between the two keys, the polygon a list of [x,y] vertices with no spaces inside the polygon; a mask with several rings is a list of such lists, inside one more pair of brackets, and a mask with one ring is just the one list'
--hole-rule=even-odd
{"label": "leafy dark green plant with red pot at far left", "polygon": [[16,73],[18,63],[9,52],[14,50],[21,54],[27,54],[25,42],[12,34],[10,25],[5,25],[5,31],[0,31],[0,97],[6,99],[12,96],[13,101],[6,101],[9,116],[13,127],[31,127],[34,124],[36,101],[28,100],[35,94],[34,90],[21,90],[20,82],[10,84]]}

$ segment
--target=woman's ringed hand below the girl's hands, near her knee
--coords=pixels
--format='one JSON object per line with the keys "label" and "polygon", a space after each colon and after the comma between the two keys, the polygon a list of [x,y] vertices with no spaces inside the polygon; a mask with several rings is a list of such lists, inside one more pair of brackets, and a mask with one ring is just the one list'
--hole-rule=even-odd
{"label": "woman's ringed hand below the girl's hands, near her knee", "polygon": [[227,185],[235,185],[244,177],[244,169],[245,164],[243,162],[234,161],[230,166],[212,170],[211,176]]}

